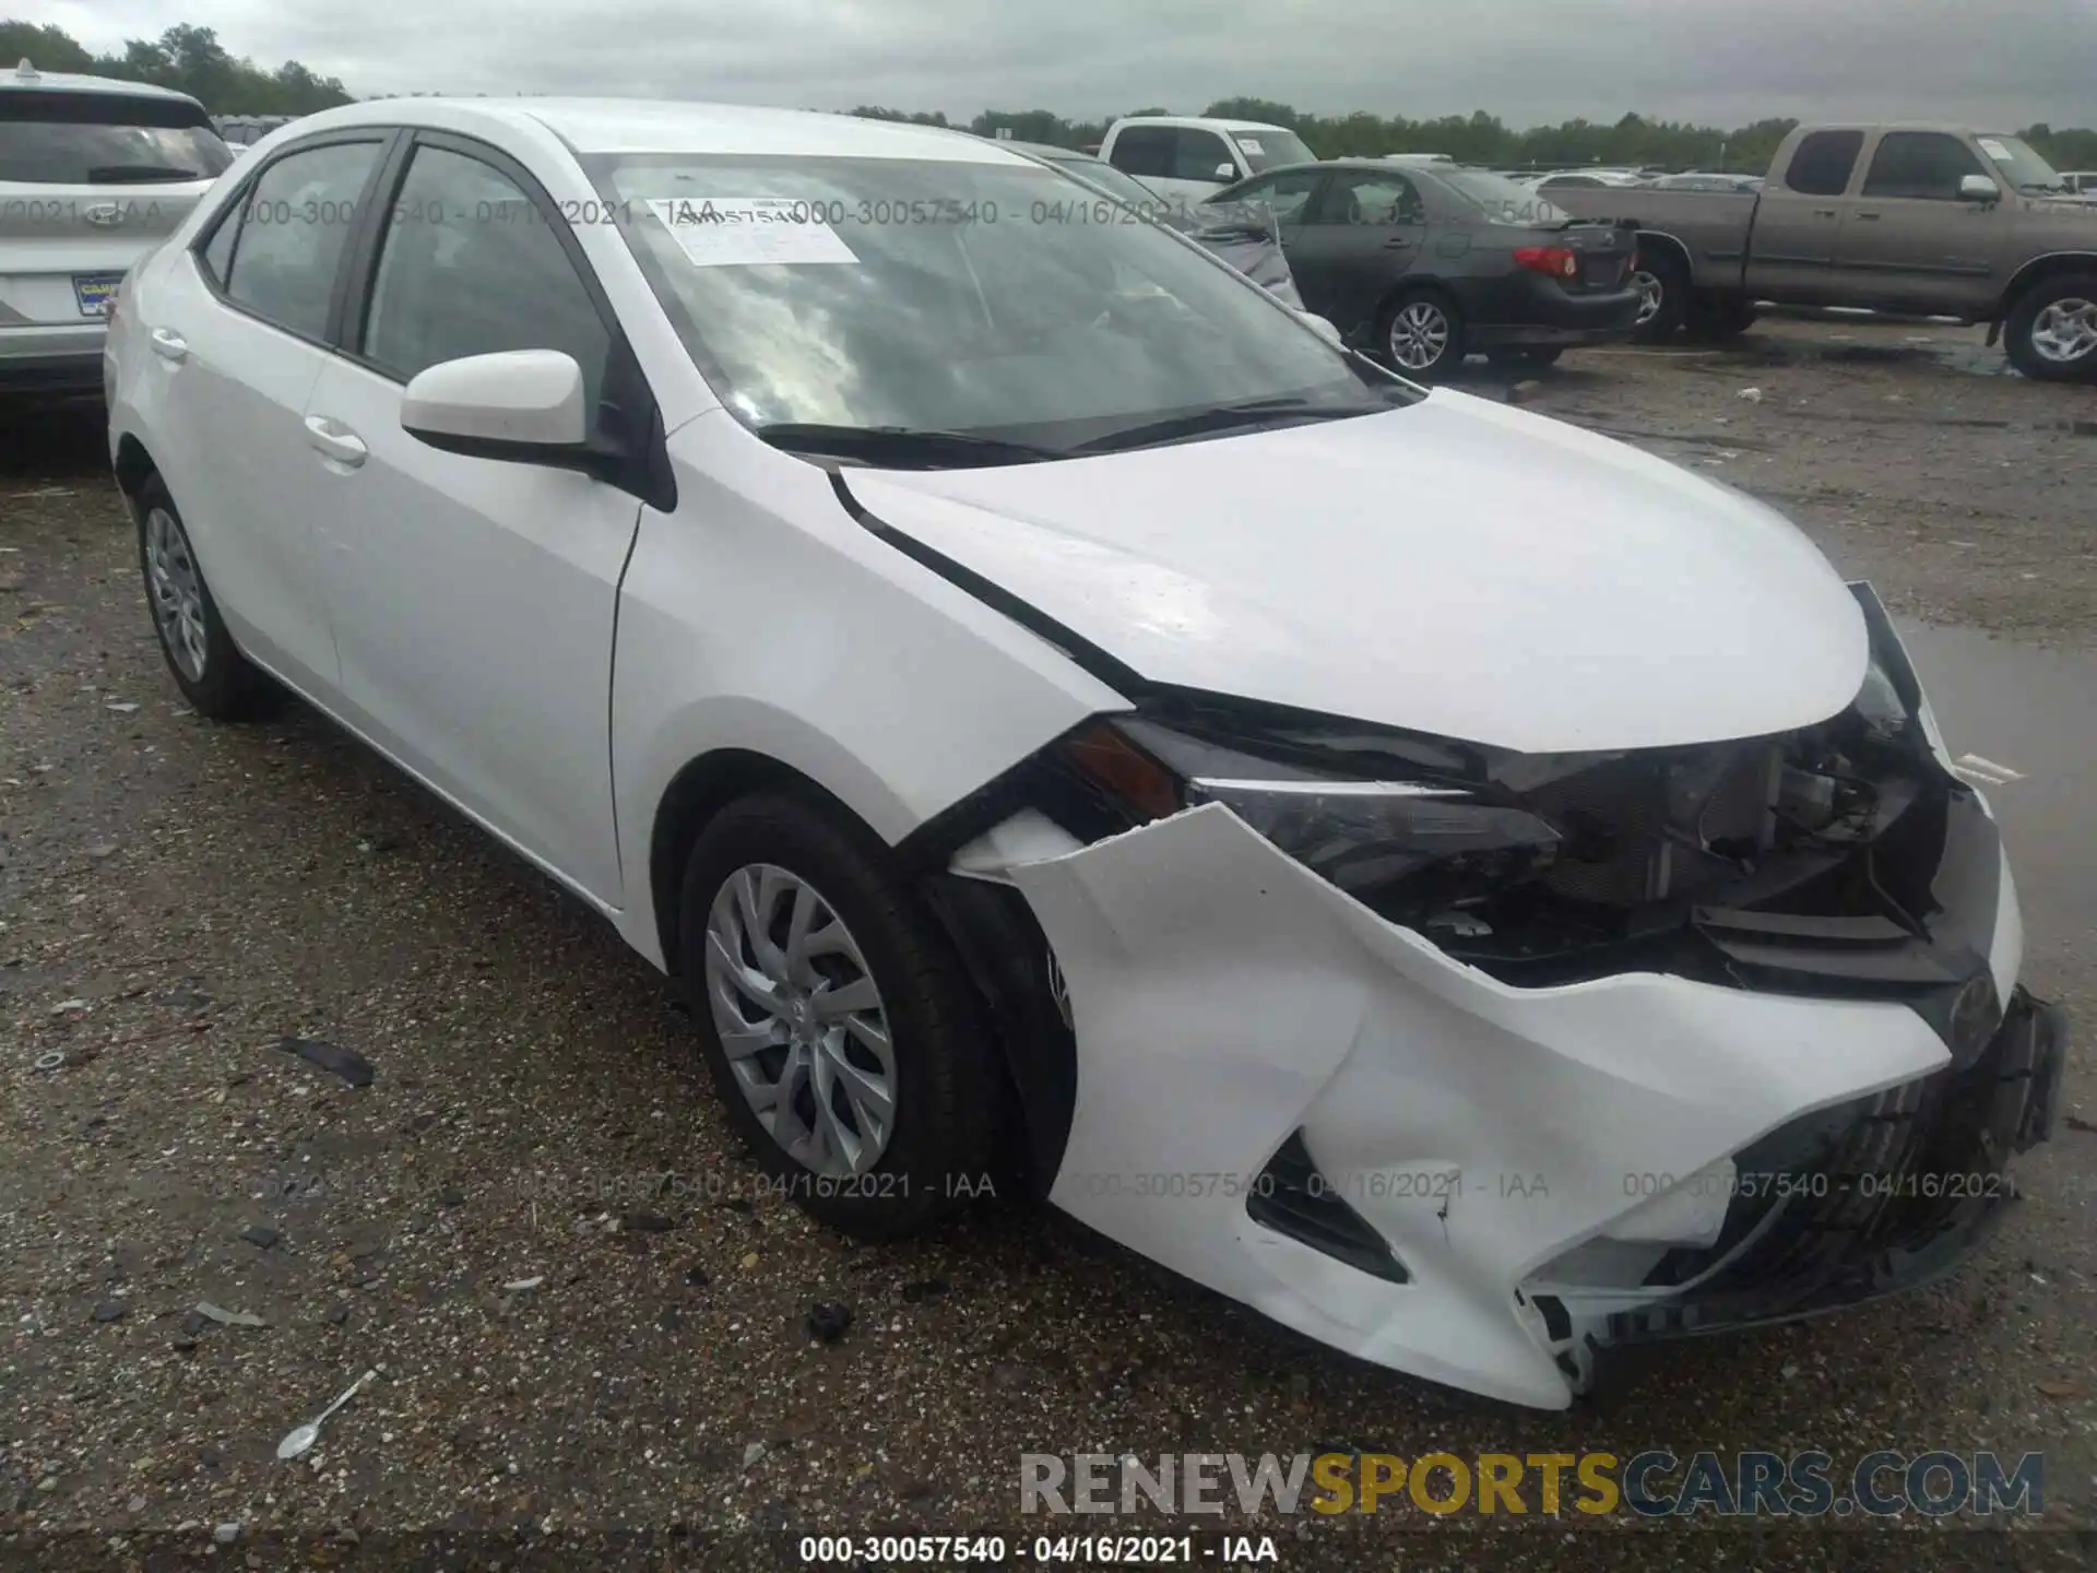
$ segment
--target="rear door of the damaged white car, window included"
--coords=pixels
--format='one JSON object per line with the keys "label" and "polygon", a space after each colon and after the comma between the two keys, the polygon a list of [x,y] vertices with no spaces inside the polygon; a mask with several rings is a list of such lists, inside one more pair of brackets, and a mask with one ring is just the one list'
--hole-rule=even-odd
{"label": "rear door of the damaged white car, window included", "polygon": [[126,394],[218,610],[247,654],[317,698],[333,692],[336,644],[302,422],[388,141],[373,128],[275,153],[132,296],[128,338],[147,352],[124,369]]}

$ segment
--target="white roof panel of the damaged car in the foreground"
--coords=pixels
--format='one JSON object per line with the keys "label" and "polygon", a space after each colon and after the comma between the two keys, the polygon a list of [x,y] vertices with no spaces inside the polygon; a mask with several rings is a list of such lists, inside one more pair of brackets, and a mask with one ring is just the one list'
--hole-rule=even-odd
{"label": "white roof panel of the damaged car in the foreground", "polygon": [[365,99],[298,122],[300,134],[340,126],[545,126],[577,153],[786,153],[952,164],[1017,161],[996,141],[944,126],[860,120],[816,109],[684,99]]}

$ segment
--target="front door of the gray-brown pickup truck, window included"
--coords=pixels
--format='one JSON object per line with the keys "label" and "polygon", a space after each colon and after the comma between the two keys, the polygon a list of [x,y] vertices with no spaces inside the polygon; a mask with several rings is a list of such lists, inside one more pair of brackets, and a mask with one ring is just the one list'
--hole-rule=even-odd
{"label": "front door of the gray-brown pickup truck, window included", "polygon": [[1969,174],[2001,180],[1963,136],[1883,132],[1841,231],[1843,287],[1858,304],[1986,313],[2009,283],[1996,243],[2001,203],[1959,195]]}

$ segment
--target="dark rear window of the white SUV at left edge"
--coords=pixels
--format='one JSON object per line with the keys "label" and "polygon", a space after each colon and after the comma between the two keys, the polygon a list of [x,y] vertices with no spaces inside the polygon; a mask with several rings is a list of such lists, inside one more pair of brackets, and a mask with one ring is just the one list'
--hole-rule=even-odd
{"label": "dark rear window of the white SUV at left edge", "polygon": [[203,109],[122,92],[0,92],[0,182],[210,180],[233,161]]}

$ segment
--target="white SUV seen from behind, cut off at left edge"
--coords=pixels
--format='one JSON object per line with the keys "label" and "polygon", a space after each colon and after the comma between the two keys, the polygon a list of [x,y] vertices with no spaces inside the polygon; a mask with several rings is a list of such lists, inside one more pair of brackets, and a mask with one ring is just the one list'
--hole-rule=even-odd
{"label": "white SUV seen from behind, cut off at left edge", "polygon": [[117,283],[231,161],[180,92],[29,61],[0,76],[0,394],[103,386]]}

